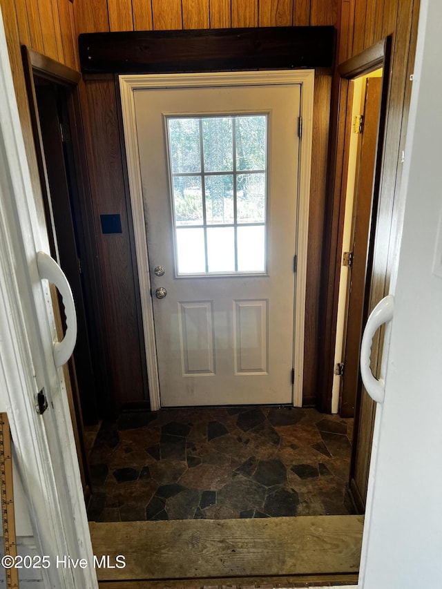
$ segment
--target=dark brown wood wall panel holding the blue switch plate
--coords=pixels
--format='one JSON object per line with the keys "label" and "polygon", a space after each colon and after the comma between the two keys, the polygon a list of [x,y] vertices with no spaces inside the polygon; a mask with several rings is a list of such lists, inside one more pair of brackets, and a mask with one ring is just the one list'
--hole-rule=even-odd
{"label": "dark brown wood wall panel holding the blue switch plate", "polygon": [[[144,400],[142,361],[119,125],[113,76],[86,81],[82,93],[86,151],[105,297],[113,394],[119,402]],[[101,214],[121,215],[122,233],[103,235]]]}

